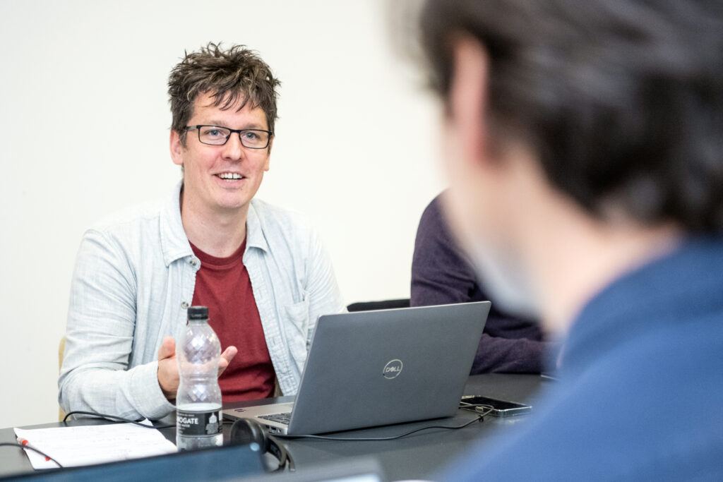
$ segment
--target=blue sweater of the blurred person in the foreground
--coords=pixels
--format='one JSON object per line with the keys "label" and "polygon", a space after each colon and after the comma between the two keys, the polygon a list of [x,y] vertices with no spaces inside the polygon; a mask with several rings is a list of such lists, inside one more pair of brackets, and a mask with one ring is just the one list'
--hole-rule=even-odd
{"label": "blue sweater of the blurred person in the foreground", "polygon": [[450,481],[723,480],[723,240],[698,238],[595,296],[561,381]]}

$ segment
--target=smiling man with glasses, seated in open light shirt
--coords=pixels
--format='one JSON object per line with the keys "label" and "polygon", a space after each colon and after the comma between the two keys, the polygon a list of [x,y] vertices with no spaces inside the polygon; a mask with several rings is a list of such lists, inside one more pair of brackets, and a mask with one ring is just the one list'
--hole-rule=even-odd
{"label": "smiling man with glasses, seated in open light shirt", "polygon": [[187,308],[209,307],[224,401],[293,395],[317,317],[343,309],[307,218],[254,199],[276,119],[267,64],[243,46],[188,53],[168,80],[168,202],[88,230],[72,280],[59,379],[66,410],[161,418],[179,384]]}

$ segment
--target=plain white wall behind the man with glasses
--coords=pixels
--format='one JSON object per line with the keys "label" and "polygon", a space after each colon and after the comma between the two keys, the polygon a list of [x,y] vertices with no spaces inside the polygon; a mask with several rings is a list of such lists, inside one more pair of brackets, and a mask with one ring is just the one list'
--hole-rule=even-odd
{"label": "plain white wall behind the man with glasses", "polygon": [[347,302],[408,296],[444,182],[437,104],[395,54],[388,1],[0,0],[0,427],[56,419],[80,237],[171,192],[166,80],[209,40],[283,82],[259,196],[315,218]]}

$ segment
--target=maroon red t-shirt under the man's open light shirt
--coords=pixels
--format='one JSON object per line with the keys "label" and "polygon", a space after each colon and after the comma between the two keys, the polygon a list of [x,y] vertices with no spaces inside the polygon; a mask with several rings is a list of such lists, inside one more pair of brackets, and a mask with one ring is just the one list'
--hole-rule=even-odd
{"label": "maroon red t-shirt under the man's open light shirt", "polygon": [[224,402],[253,400],[273,395],[275,372],[261,318],[243,263],[246,241],[227,258],[206,254],[191,244],[201,260],[196,273],[194,306],[208,306],[208,323],[221,340],[221,351],[229,345],[239,349],[218,384]]}

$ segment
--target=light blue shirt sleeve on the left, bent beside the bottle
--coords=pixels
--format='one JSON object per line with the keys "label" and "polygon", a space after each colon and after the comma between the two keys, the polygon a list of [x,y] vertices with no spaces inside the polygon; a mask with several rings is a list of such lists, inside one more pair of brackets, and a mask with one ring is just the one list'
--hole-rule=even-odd
{"label": "light blue shirt sleeve on the left, bent beside the bottle", "polygon": [[135,287],[123,247],[99,231],[87,231],[72,278],[58,381],[59,403],[66,412],[158,419],[174,410],[158,384],[157,361],[129,369]]}

